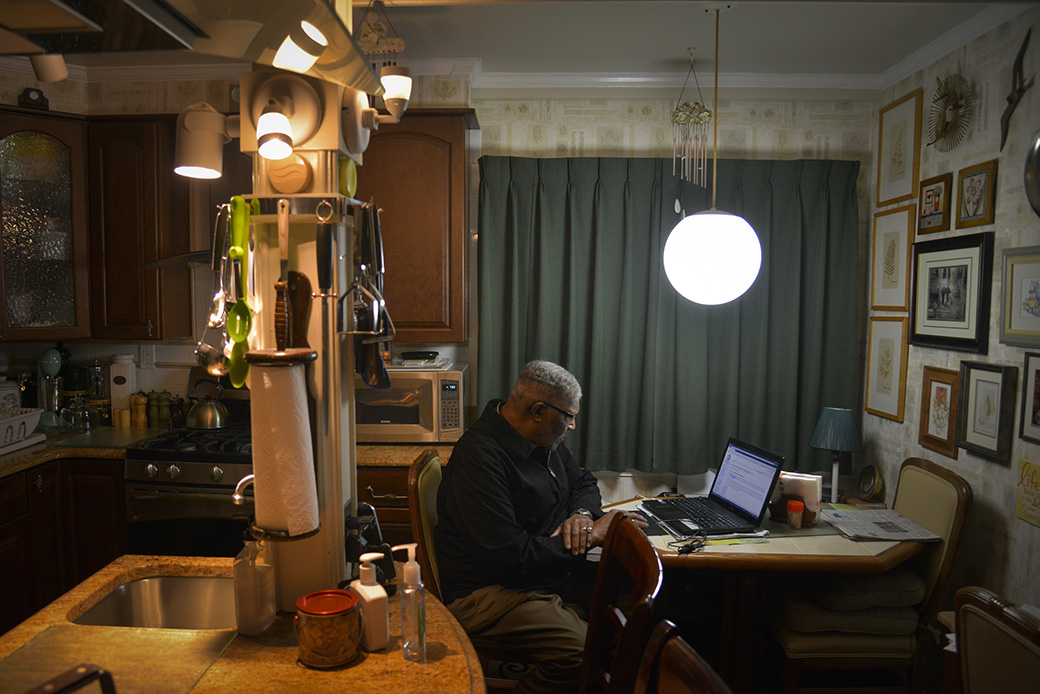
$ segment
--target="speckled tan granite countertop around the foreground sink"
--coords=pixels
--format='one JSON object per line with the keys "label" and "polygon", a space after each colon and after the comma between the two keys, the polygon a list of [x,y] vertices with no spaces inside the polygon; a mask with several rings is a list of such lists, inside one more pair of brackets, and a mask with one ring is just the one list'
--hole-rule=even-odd
{"label": "speckled tan granite countertop around the foreground sink", "polygon": [[[121,557],[0,637],[0,658],[11,657],[12,661],[34,646],[38,650],[40,644],[50,643],[46,637],[60,634],[63,644],[88,643],[94,653],[100,653],[95,660],[104,661],[109,650],[118,650],[121,662],[136,658],[142,665],[136,668],[135,679],[147,683],[150,677],[157,678],[153,685],[161,691],[170,689],[166,679],[158,679],[166,676],[160,667],[163,658],[178,649],[187,657],[192,654],[190,649],[196,649],[202,651],[194,653],[202,656],[196,658],[202,663],[202,674],[193,685],[180,690],[191,694],[339,694],[347,690],[484,694],[483,672],[469,639],[447,609],[428,595],[424,661],[407,661],[401,654],[399,599],[393,597],[390,599],[390,645],[381,651],[363,653],[354,663],[334,670],[312,670],[298,665],[298,646],[290,613],[279,613],[275,623],[257,637],[241,636],[232,629],[146,629],[85,626],[71,621],[128,581],[150,575],[231,576],[232,561],[230,558]],[[222,650],[223,643],[228,641],[230,643]],[[215,642],[219,643],[214,648]],[[19,650],[23,648],[25,650]],[[137,651],[144,652],[138,656]],[[41,683],[59,673],[60,670],[51,671],[54,668],[48,667],[49,662],[53,665],[58,660],[35,658],[32,661],[34,672],[38,667]],[[0,662],[0,666],[3,664]],[[94,664],[109,667],[116,678],[118,690],[123,691],[120,673],[114,668],[104,662]]]}

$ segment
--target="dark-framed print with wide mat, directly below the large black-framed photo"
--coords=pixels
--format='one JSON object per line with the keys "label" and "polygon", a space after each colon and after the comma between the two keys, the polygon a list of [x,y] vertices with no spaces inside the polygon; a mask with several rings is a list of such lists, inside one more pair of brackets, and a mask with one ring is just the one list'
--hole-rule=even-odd
{"label": "dark-framed print with wide mat, directly below the large black-framed photo", "polygon": [[989,460],[1008,462],[1017,380],[1017,366],[961,362],[958,446]]}

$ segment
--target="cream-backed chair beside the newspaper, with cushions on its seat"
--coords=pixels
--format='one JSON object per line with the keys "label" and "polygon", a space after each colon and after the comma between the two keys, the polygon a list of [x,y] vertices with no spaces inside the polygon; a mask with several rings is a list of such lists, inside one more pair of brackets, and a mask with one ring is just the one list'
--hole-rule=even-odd
{"label": "cream-backed chair beside the newspaper, with cushions on its seat", "polygon": [[[939,607],[950,588],[954,563],[964,538],[968,512],[971,508],[971,488],[960,475],[920,458],[908,458],[900,468],[895,500],[892,508],[902,515],[932,531],[941,539],[930,542],[925,550],[907,563],[922,584],[916,610],[900,608],[902,628],[895,628],[895,619],[887,619],[891,610],[887,606],[880,615],[866,610],[821,609],[811,619],[817,619],[820,628],[792,628],[785,620],[784,608],[774,632],[783,647],[784,694],[801,689],[800,679],[805,670],[895,670],[904,675],[896,689],[920,692],[924,687],[925,657],[934,636],[934,624]],[[877,576],[882,584],[886,577],[901,573],[893,569]],[[902,574],[906,575],[906,571]],[[920,581],[922,580],[922,581]],[[884,591],[879,587],[878,594]],[[812,599],[818,599],[813,597]],[[818,607],[818,606],[817,606]],[[888,610],[888,612],[886,612]],[[910,618],[905,615],[909,610]],[[866,613],[866,614],[864,614]],[[790,613],[786,613],[790,614]],[[882,619],[876,619],[876,617]],[[857,631],[849,625],[869,621],[870,628]],[[884,623],[882,623],[884,622]],[[886,626],[885,624],[889,624]],[[885,631],[891,628],[891,631]],[[876,689],[876,688],[875,688]]]}

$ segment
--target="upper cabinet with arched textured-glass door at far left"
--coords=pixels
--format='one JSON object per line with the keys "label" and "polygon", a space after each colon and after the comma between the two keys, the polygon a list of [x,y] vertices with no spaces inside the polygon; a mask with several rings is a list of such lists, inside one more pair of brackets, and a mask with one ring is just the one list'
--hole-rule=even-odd
{"label": "upper cabinet with arched textured-glass door at far left", "polygon": [[0,117],[0,339],[88,337],[86,121]]}

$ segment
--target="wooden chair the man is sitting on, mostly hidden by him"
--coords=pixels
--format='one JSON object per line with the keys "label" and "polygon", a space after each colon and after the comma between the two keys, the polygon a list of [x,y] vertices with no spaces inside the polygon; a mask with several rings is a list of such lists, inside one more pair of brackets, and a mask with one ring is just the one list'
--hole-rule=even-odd
{"label": "wooden chair the man is sitting on, mostly hidden by him", "polygon": [[[423,451],[408,469],[408,508],[412,521],[412,537],[416,543],[415,561],[419,562],[419,571],[422,573],[426,591],[438,600],[441,599],[441,583],[437,571],[434,531],[437,528],[437,490],[440,486],[440,456],[433,448]],[[511,652],[492,651],[487,648],[480,648],[476,654],[485,672],[489,661],[511,663],[516,660]],[[515,689],[517,680],[485,676],[485,685],[489,691],[505,691]]]}

